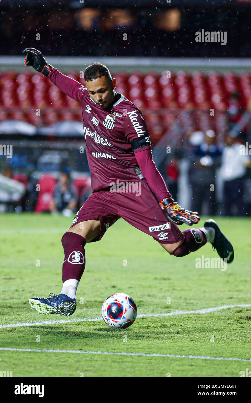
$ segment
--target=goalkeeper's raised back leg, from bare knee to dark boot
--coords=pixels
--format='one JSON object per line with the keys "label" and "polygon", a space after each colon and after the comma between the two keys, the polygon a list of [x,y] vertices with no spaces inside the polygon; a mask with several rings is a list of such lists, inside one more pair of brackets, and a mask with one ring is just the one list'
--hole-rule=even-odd
{"label": "goalkeeper's raised back leg, from bare knee to dark boot", "polygon": [[234,260],[234,248],[214,220],[206,220],[203,228],[186,229],[183,231],[183,235],[183,240],[177,243],[160,244],[171,255],[182,257],[190,252],[197,251],[205,243],[210,242],[213,249],[217,251],[222,259],[226,259],[227,263],[231,263]]}

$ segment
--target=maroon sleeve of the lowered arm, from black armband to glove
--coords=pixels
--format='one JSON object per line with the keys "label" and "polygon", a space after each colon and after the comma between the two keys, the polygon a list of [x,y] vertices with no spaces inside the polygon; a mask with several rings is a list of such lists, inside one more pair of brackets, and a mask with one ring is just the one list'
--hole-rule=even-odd
{"label": "maroon sleeve of the lowered arm, from black armband to glove", "polygon": [[151,148],[147,146],[147,149],[142,151],[141,148],[135,150],[135,157],[139,164],[139,168],[141,169],[141,172],[147,180],[147,183],[151,191],[154,193],[156,199],[160,202],[165,197],[171,197],[162,175],[156,168]]}

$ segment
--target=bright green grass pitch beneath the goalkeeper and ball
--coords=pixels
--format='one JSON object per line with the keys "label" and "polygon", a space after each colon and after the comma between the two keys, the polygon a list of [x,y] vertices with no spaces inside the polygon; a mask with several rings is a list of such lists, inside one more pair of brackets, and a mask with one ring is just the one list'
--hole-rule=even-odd
{"label": "bright green grass pitch beneath the goalkeeper and ball", "polygon": [[[148,235],[120,219],[102,241],[87,244],[86,268],[70,318],[39,315],[30,297],[61,291],[61,237],[71,225],[63,216],[1,215],[0,325],[96,318],[103,301],[124,292],[138,314],[164,314],[222,305],[250,304],[251,221],[217,219],[232,241],[235,260],[220,268],[196,268],[195,259],[216,257],[210,244],[175,258]],[[203,225],[203,220],[197,227]],[[185,224],[181,229],[185,229]],[[125,330],[103,321],[0,328],[0,347],[161,353],[251,358],[251,307],[206,314],[137,318]],[[13,376],[240,376],[245,361],[131,355],[0,351],[0,370]]]}

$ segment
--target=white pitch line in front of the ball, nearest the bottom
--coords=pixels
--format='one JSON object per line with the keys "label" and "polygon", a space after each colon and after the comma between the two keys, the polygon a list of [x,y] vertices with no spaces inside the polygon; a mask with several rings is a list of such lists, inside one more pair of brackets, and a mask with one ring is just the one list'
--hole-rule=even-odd
{"label": "white pitch line in front of the ball, nearest the bottom", "polygon": [[251,358],[210,357],[208,355],[178,355],[178,354],[147,354],[147,353],[112,353],[111,351],[82,351],[82,350],[46,350],[46,349],[15,349],[0,347],[1,351],[27,351],[29,353],[74,353],[74,354],[105,354],[105,355],[132,355],[137,357],[171,357],[193,359],[216,359],[225,361],[251,361]]}

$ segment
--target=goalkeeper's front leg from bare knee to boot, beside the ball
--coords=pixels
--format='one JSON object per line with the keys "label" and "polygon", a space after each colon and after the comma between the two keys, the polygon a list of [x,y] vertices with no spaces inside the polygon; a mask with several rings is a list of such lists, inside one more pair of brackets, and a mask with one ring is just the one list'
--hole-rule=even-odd
{"label": "goalkeeper's front leg from bare knee to boot, beside the ball", "polygon": [[85,244],[100,233],[100,221],[88,220],[71,227],[62,236],[64,248],[63,287],[60,294],[50,294],[48,298],[30,298],[31,308],[39,314],[70,316],[75,312],[76,293],[79,280],[85,270]]}

